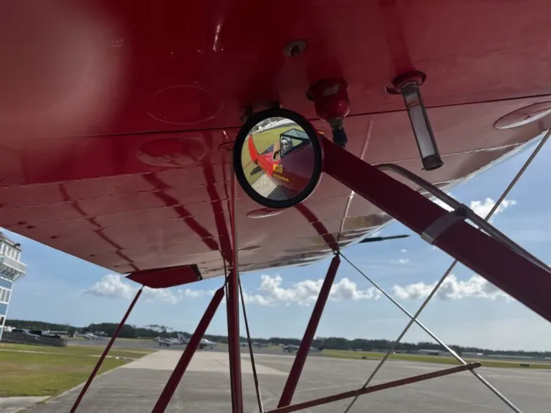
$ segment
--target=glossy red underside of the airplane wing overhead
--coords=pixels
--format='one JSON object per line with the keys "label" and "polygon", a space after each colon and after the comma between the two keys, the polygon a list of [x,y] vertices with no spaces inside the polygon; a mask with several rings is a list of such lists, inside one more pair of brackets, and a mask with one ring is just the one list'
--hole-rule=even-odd
{"label": "glossy red underside of the airplane wing overhead", "polygon": [[[238,4],[239,3],[239,4]],[[349,83],[347,150],[457,184],[537,136],[498,118],[551,95],[546,0],[54,1],[0,15],[0,226],[119,273],[198,264],[222,273],[231,153],[245,105],[315,119],[306,89]],[[31,28],[33,30],[31,30]],[[284,46],[306,42],[304,54]],[[421,170],[396,74],[423,94],[445,165]],[[330,134],[319,120],[315,127]],[[329,176],[298,209],[251,219],[238,188],[240,267],[324,256],[388,220]]]}

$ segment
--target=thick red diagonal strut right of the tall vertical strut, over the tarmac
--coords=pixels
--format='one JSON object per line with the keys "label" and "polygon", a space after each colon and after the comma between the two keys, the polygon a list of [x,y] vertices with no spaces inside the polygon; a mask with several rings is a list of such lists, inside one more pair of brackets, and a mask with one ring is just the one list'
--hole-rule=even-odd
{"label": "thick red diagonal strut right of the tall vertical strut, over the tarmac", "polygon": [[306,331],[304,332],[304,337],[302,337],[302,341],[300,341],[300,347],[298,348],[293,367],[291,367],[291,372],[289,372],[289,376],[287,377],[287,383],[285,383],[285,387],[283,388],[278,408],[291,404],[291,399],[293,399],[293,394],[295,394],[295,389],[297,388],[298,379],[300,379],[306,356],[308,356],[308,352],[312,346],[315,330],[318,329],[325,303],[329,298],[329,293],[331,293],[331,286],[333,286],[333,282],[335,281],[335,275],[337,275],[339,264],[340,257],[335,255],[333,260],[331,260],[329,270],[327,270],[325,280],[320,290],[320,295],[318,295],[318,301],[315,301],[315,306],[312,310],[312,315],[306,327]]}

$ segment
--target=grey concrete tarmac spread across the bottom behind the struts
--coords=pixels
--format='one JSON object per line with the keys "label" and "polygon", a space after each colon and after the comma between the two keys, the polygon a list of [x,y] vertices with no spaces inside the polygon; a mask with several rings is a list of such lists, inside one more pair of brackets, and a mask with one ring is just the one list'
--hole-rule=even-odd
{"label": "grey concrete tarmac spread across the bottom behind the struts", "polygon": [[[117,368],[94,380],[79,407],[79,413],[151,412],[176,366],[180,352],[160,350]],[[255,354],[264,409],[278,404],[293,357]],[[298,383],[293,403],[361,387],[377,361],[309,357]],[[437,364],[388,361],[373,383],[402,379],[447,368]],[[551,402],[551,372],[479,368],[478,371],[524,412],[548,413]],[[258,412],[249,357],[242,356],[245,413]],[[37,405],[32,413],[68,412],[79,388]],[[302,410],[306,413],[343,412],[348,401]],[[231,412],[229,366],[225,352],[201,351],[192,359],[167,412]],[[508,407],[470,374],[461,372],[401,388],[361,396],[351,412],[442,413],[508,412]]]}

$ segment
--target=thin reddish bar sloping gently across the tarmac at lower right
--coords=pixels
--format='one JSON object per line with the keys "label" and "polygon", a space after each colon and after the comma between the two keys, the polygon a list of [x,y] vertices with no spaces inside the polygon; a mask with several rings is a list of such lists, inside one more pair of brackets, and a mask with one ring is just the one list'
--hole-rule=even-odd
{"label": "thin reddish bar sloping gently across the tarmac at lower right", "polygon": [[396,388],[401,385],[418,383],[419,381],[424,381],[428,379],[436,379],[437,377],[444,377],[450,374],[464,372],[466,370],[472,370],[479,368],[481,363],[475,361],[473,363],[464,364],[462,366],[446,368],[444,370],[438,370],[435,372],[419,374],[417,376],[406,377],[405,379],[399,379],[395,381],[388,381],[387,383],[380,383],[376,385],[369,386],[367,388],[360,388],[357,390],[351,390],[350,392],[343,392],[338,394],[333,394],[331,396],[321,397],[320,399],[304,401],[302,403],[297,403],[294,405],[287,405],[278,407],[277,409],[269,410],[267,413],[291,413],[298,412],[299,410],[309,409],[310,407],[315,407],[319,405],[324,405],[327,403],[332,403],[333,401],[339,401],[343,399],[350,399],[351,397],[361,396],[362,394],[368,394],[373,392],[379,392],[380,390],[387,390],[391,388]]}

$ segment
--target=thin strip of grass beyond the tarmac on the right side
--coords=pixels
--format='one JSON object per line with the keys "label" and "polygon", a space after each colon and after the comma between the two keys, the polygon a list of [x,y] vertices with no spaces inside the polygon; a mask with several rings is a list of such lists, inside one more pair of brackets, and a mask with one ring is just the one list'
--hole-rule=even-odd
{"label": "thin strip of grass beyond the tarmac on the right side", "polygon": [[[335,357],[338,359],[367,359],[380,360],[384,354],[377,352],[352,352],[346,350],[324,350],[321,353],[325,357]],[[429,356],[422,354],[392,354],[389,359],[392,360],[406,360],[406,361],[420,361],[423,363],[439,363],[439,364],[451,364],[458,365],[459,362],[453,357],[443,356]],[[465,361],[480,361],[482,366],[485,367],[498,367],[498,368],[527,368],[521,367],[521,363],[529,364],[529,368],[535,369],[551,369],[551,363],[545,362],[532,362],[528,361],[507,361],[507,360],[487,360],[487,359],[465,359]]]}

